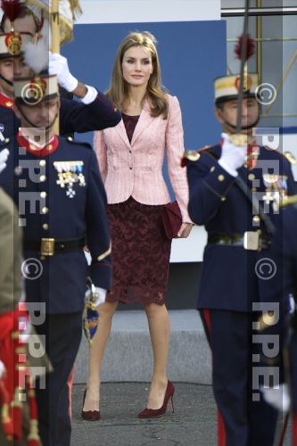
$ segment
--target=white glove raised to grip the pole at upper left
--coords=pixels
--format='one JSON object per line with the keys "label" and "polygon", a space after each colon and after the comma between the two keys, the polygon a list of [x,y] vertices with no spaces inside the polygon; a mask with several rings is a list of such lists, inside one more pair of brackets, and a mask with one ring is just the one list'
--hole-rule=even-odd
{"label": "white glove raised to grip the pole at upper left", "polygon": [[78,87],[78,79],[72,76],[68,61],[61,54],[49,53],[48,71],[50,74],[56,74],[59,86],[70,93]]}

